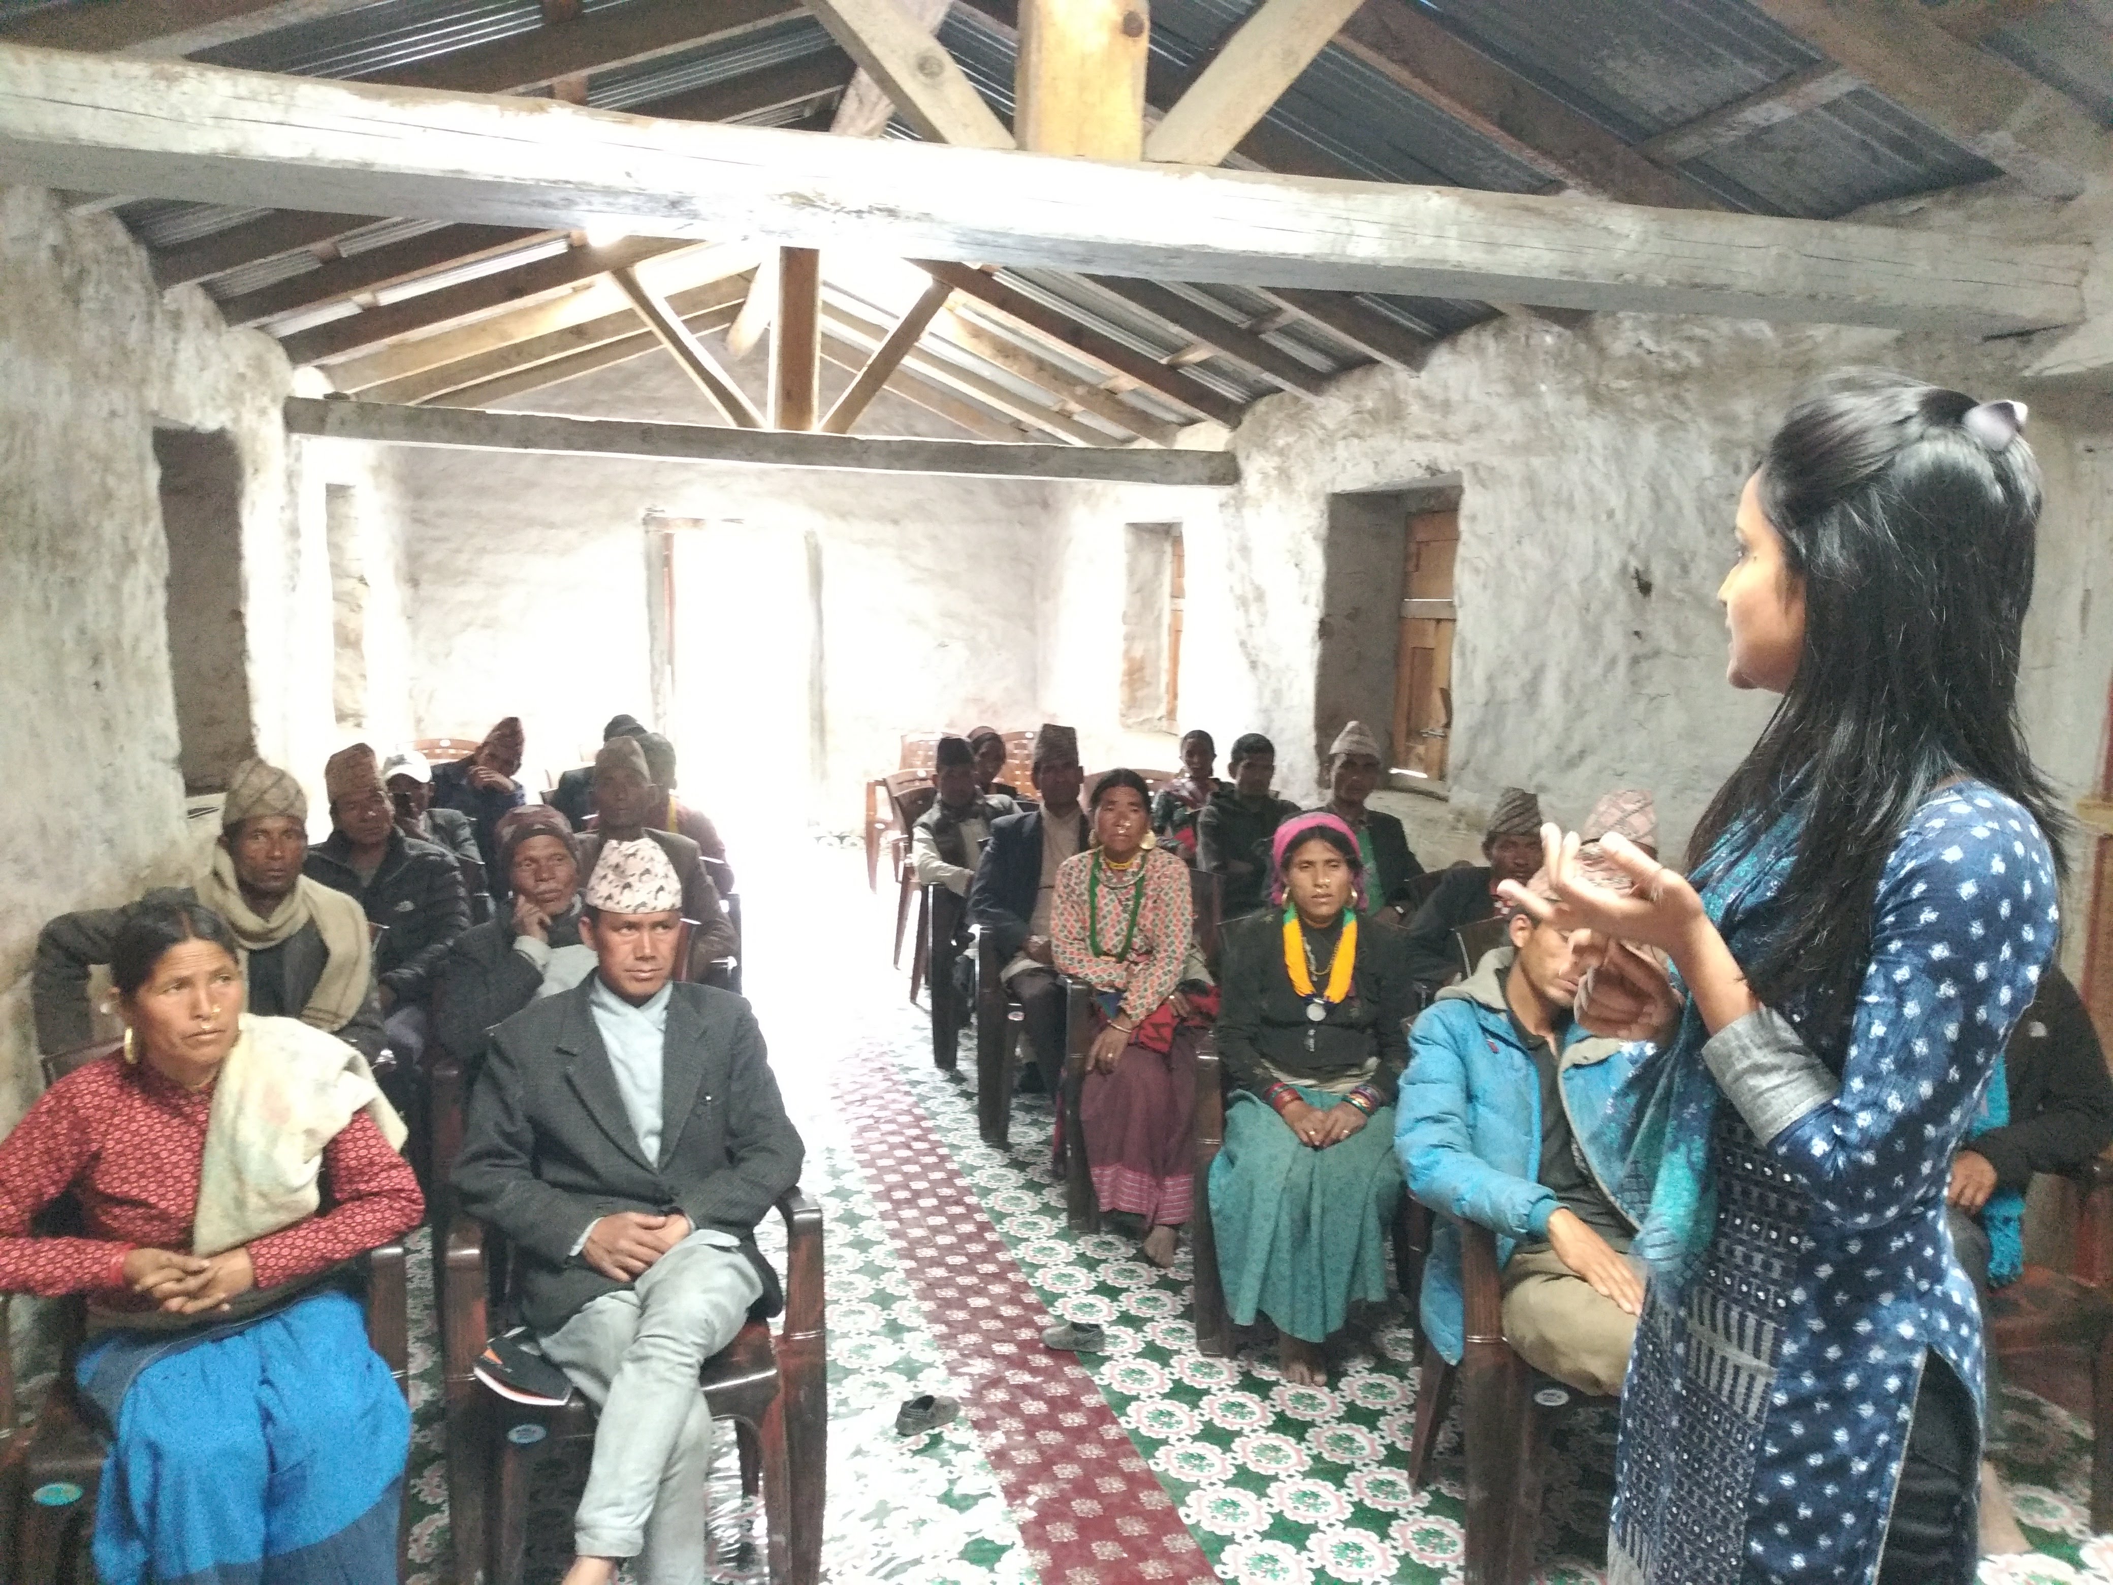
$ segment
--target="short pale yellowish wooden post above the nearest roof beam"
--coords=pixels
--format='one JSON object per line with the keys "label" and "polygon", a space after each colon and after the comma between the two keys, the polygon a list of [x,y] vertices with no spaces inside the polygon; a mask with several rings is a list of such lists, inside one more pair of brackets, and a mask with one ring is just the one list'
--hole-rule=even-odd
{"label": "short pale yellowish wooden post above the nearest roof beam", "polygon": [[1147,0],[1021,0],[1012,135],[1042,154],[1145,156]]}

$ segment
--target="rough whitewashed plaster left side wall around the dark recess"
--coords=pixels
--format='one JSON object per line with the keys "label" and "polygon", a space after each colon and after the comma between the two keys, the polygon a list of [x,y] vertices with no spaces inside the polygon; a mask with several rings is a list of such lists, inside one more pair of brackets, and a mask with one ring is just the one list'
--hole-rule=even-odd
{"label": "rough whitewashed plaster left side wall around the dark recess", "polygon": [[[0,1126],[38,1090],[30,957],[42,921],[188,879],[163,590],[154,423],[226,429],[243,465],[243,600],[258,746],[325,719],[300,693],[279,404],[268,336],[230,334],[197,292],[163,298],[110,216],[0,190]],[[328,619],[325,619],[328,632]],[[328,668],[328,647],[321,666]],[[317,761],[319,769],[319,761]]]}

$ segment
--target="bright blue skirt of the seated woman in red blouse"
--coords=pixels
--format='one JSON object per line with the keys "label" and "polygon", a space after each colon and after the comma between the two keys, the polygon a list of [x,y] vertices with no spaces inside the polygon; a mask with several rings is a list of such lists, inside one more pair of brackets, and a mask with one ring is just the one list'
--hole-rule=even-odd
{"label": "bright blue skirt of the seated woman in red blouse", "polygon": [[347,1293],[177,1338],[118,1331],[76,1367],[116,1426],[104,1585],[380,1585],[397,1577],[410,1410]]}

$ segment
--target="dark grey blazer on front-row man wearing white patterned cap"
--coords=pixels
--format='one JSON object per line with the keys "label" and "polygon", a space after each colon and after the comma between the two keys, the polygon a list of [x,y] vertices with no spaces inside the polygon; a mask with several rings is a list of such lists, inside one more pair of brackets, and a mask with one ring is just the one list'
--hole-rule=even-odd
{"label": "dark grey blazer on front-row man wearing white patterned cap", "polygon": [[784,1295],[756,1224],[799,1183],[807,1152],[778,1099],[756,1014],[733,991],[674,983],[661,1150],[649,1162],[594,1027],[592,991],[590,974],[492,1031],[454,1164],[463,1209],[524,1255],[522,1321],[551,1334],[623,1287],[573,1255],[613,1211],[680,1211],[693,1228],[733,1234],[763,1281],[750,1317],[778,1314]]}

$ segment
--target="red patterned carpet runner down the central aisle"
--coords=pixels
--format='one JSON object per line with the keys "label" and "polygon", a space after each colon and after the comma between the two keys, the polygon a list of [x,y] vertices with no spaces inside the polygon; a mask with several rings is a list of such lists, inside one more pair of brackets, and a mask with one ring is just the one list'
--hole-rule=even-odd
{"label": "red patterned carpet runner down the central aisle", "polygon": [[875,1209],[1042,1579],[1215,1581],[1101,1388],[1042,1346],[1042,1300],[887,1052],[860,1052],[839,1074]]}

